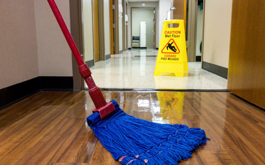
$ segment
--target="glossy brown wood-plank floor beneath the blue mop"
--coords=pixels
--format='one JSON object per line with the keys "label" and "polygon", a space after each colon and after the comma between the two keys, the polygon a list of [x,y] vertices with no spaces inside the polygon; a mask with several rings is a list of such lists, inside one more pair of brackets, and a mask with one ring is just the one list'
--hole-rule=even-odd
{"label": "glossy brown wood-plank floor beneath the blue mop", "polygon": [[[204,129],[211,140],[179,164],[265,164],[265,112],[229,92],[103,93],[129,115]],[[1,110],[0,164],[119,164],[86,125],[93,109],[88,91],[41,91]]]}

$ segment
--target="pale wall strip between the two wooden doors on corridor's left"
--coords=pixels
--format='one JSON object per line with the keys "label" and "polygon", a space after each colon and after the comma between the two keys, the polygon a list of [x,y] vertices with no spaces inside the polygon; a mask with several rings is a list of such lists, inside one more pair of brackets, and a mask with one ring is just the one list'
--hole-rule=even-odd
{"label": "pale wall strip between the two wooden doors on corridor's left", "polygon": [[110,46],[110,26],[109,26],[109,0],[104,0],[104,36],[105,36],[105,55],[111,54]]}

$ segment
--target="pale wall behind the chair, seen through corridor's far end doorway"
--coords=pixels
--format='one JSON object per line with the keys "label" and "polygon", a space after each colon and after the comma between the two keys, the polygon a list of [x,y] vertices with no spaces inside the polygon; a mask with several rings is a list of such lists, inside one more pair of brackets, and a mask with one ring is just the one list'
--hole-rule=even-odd
{"label": "pale wall behind the chair, seen through corridor's far end doorway", "polygon": [[[132,34],[133,36],[140,36],[140,22],[146,22],[146,47],[153,49],[153,30],[154,30],[154,9],[133,9],[132,10]],[[133,47],[138,47],[138,43],[133,43]]]}

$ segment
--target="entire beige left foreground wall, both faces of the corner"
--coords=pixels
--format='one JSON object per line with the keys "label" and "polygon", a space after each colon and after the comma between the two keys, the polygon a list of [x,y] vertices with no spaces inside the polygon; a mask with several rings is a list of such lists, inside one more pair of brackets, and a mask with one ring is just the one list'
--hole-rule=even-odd
{"label": "entire beige left foreground wall, both faces of the corner", "polygon": [[[56,0],[70,27],[69,1]],[[47,1],[0,5],[0,89],[38,76],[73,76],[70,48]]]}

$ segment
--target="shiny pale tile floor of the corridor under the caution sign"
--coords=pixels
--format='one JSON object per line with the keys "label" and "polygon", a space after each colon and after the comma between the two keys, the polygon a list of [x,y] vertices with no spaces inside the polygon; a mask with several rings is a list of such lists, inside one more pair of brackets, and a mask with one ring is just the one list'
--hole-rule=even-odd
{"label": "shiny pale tile floor of the corridor under the caution sign", "polygon": [[111,55],[91,67],[100,88],[137,89],[227,89],[227,79],[201,69],[201,62],[188,63],[187,77],[154,76],[158,50],[133,49]]}

